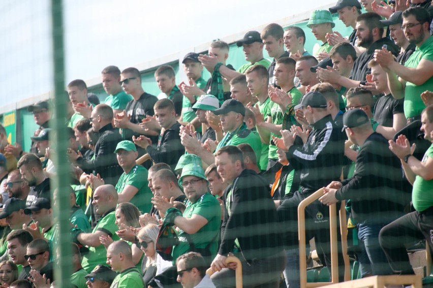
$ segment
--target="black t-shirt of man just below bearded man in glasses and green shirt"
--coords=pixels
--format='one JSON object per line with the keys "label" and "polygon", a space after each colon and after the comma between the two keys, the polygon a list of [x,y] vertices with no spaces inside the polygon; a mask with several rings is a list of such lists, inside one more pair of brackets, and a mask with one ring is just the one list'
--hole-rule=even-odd
{"label": "black t-shirt of man just below bearded man in glasses and green shirt", "polygon": [[392,94],[380,97],[375,104],[373,118],[384,127],[392,127],[394,114],[403,112],[404,99],[395,99]]}

